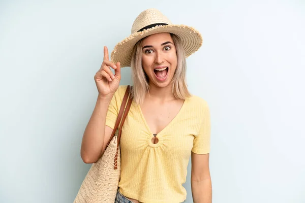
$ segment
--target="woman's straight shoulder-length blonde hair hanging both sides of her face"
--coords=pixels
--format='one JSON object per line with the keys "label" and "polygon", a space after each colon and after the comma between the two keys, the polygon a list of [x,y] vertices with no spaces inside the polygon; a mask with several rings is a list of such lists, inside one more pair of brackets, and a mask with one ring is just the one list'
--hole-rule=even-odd
{"label": "woman's straight shoulder-length blonde hair hanging both sides of her face", "polygon": [[[186,99],[186,97],[191,96],[186,81],[186,54],[180,39],[172,33],[170,33],[170,35],[176,47],[177,54],[177,67],[171,81],[173,84],[172,93],[176,99]],[[136,104],[142,104],[145,94],[149,93],[148,77],[142,67],[141,43],[143,39],[138,41],[134,46],[131,59],[132,79],[134,83],[131,93]]]}

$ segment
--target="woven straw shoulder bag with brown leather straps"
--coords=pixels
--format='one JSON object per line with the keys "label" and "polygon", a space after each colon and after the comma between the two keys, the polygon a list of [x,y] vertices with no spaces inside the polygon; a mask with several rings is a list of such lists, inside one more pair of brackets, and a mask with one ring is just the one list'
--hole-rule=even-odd
{"label": "woven straw shoulder bag with brown leather straps", "polygon": [[[113,132],[107,144],[107,148],[104,151],[102,157],[96,163],[93,163],[90,167],[87,175],[85,176],[85,179],[80,186],[74,203],[113,203],[115,201],[120,178],[119,140],[122,126],[127,117],[132,102],[132,98],[128,99],[130,90],[131,86],[128,86],[123,98],[123,102],[120,106]],[[128,104],[126,106],[127,100]]]}

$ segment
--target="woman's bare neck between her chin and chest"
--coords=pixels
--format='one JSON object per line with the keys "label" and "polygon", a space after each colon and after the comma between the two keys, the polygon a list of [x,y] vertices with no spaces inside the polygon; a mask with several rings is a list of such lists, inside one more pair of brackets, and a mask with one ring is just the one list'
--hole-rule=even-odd
{"label": "woman's bare neck between her chin and chest", "polygon": [[166,87],[158,87],[154,84],[149,84],[149,93],[146,94],[146,98],[156,99],[159,101],[168,101],[175,99],[172,94],[172,84]]}

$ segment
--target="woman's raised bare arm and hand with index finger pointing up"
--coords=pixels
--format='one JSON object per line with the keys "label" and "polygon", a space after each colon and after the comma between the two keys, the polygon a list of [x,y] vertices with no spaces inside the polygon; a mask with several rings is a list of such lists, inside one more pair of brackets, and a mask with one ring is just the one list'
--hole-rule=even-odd
{"label": "woman's raised bare arm and hand with index finger pointing up", "polygon": [[[115,74],[110,70],[114,69]],[[94,76],[99,96],[92,116],[86,126],[80,156],[85,163],[94,163],[102,156],[111,137],[112,129],[105,125],[109,104],[119,86],[120,63],[109,61],[108,48],[104,46],[104,60]]]}

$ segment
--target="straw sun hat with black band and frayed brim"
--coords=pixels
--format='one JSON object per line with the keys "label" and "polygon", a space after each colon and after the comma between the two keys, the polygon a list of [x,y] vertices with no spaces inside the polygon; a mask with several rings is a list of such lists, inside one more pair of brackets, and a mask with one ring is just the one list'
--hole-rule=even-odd
{"label": "straw sun hat with black band and frayed brim", "polygon": [[186,57],[196,52],[202,45],[199,31],[187,25],[174,25],[157,9],[147,9],[135,19],[131,35],[117,43],[111,52],[111,61],[120,62],[120,67],[131,65],[132,50],[135,44],[155,33],[169,32],[176,35],[182,42]]}

